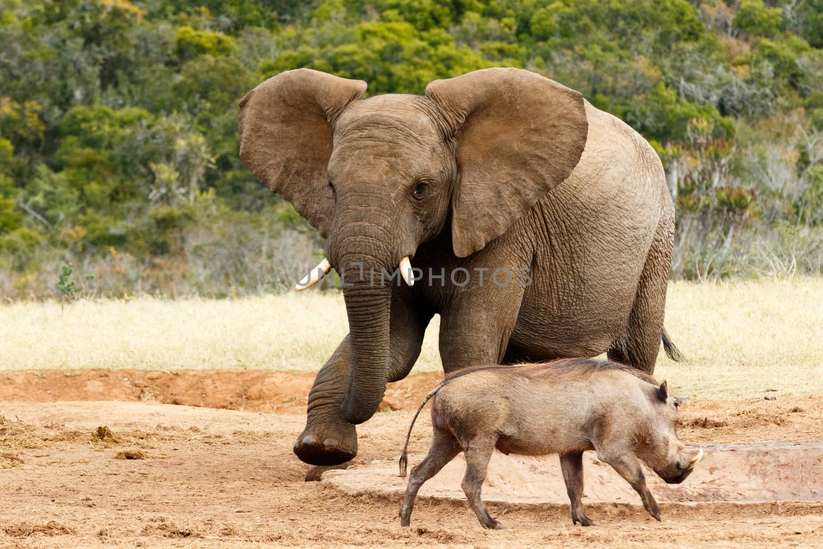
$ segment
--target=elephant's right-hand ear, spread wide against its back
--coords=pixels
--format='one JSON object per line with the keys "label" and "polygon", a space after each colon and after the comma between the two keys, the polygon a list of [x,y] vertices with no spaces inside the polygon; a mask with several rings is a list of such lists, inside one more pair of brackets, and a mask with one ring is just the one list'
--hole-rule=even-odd
{"label": "elephant's right-hand ear, spread wide against its back", "polygon": [[457,139],[452,241],[460,258],[569,177],[586,146],[583,96],[534,72],[487,68],[433,81],[425,95]]}

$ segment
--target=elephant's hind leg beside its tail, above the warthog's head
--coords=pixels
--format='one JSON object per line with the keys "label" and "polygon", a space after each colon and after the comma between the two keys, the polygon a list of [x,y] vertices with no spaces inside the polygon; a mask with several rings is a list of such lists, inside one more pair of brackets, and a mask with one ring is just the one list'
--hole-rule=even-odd
{"label": "elephant's hind leg beside its tail, above the warthog's head", "polygon": [[674,217],[664,215],[654,235],[649,255],[635,294],[635,304],[626,327],[612,343],[607,355],[611,361],[634,366],[651,375],[658,359],[669,271],[672,268]]}

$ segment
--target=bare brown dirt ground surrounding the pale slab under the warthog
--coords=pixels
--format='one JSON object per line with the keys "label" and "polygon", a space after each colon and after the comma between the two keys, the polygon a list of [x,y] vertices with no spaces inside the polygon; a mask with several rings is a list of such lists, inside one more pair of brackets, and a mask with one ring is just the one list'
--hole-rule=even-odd
{"label": "bare brown dirt ground surrounding the pale slab under the warthog", "polygon": [[[361,463],[398,455],[437,377],[392,384],[388,412],[358,429]],[[0,374],[0,547],[823,544],[823,506],[793,503],[663,505],[663,523],[639,507],[593,505],[593,528],[572,526],[563,508],[493,504],[509,530],[488,532],[463,502],[424,500],[412,528],[400,528],[396,500],[304,482],[308,467],[291,445],[311,380],[262,371]],[[687,444],[823,440],[816,396],[695,399],[681,415]],[[424,414],[410,451],[429,441]]]}

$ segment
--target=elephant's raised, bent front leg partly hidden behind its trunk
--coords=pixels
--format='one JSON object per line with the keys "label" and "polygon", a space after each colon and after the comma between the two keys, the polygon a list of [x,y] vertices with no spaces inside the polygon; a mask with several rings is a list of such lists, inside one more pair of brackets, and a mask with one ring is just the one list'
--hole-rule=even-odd
{"label": "elephant's raised, bent front leg partly hidden behind its trunk", "polygon": [[[412,305],[400,292],[393,295],[391,307],[387,379],[397,381],[408,375],[420,356],[425,328],[434,313],[420,302]],[[309,392],[306,426],[294,448],[297,457],[305,463],[338,465],[357,455],[357,431],[343,419],[340,409],[350,375],[351,342],[346,336],[318,372]]]}

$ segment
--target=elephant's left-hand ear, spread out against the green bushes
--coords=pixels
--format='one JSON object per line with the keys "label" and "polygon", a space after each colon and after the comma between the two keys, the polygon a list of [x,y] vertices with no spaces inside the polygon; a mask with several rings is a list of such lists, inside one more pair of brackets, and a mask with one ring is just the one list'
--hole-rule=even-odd
{"label": "elephant's left-hand ear, spread out against the green bushes", "polygon": [[366,84],[299,68],[281,72],[240,100],[240,159],[328,236],[334,197],[326,166],[332,124]]}

